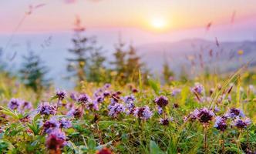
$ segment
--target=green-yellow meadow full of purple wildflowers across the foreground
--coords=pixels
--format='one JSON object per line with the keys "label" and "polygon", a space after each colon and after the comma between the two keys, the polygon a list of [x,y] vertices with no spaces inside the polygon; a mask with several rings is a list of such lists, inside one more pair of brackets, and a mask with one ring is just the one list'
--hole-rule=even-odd
{"label": "green-yellow meadow full of purple wildflowers across the foreground", "polygon": [[15,78],[1,79],[2,153],[256,152],[255,93],[241,70],[170,85],[81,82],[39,97]]}

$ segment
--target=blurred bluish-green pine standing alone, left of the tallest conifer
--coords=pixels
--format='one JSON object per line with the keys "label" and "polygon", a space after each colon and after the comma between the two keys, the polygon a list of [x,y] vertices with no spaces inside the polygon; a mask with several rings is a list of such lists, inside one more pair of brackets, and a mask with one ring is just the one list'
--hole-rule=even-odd
{"label": "blurred bluish-green pine standing alone, left of the tallest conifer", "polygon": [[23,56],[24,62],[19,70],[24,85],[40,94],[42,89],[49,87],[50,79],[46,79],[49,69],[43,65],[39,55],[29,51],[28,55]]}

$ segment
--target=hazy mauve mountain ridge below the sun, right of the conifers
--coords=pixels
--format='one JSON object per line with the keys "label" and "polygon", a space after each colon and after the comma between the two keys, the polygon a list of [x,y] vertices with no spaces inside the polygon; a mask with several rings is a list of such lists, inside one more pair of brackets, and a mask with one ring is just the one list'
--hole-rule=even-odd
{"label": "hazy mauve mountain ridge below the sun, right of the conifers", "polygon": [[194,74],[202,68],[227,72],[251,61],[256,65],[256,42],[214,42],[204,39],[185,39],[179,42],[158,42],[137,47],[150,69],[160,72],[163,62],[169,62],[174,72],[181,68]]}

